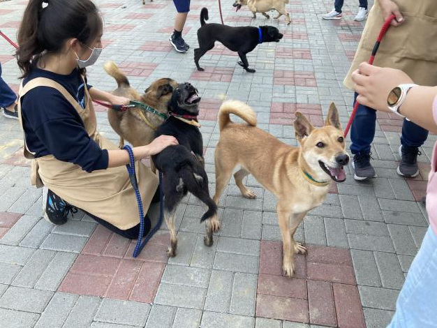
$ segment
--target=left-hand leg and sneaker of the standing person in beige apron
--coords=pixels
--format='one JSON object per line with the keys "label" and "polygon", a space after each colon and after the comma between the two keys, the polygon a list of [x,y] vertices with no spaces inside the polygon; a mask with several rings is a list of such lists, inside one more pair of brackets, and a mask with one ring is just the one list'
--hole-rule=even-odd
{"label": "left-hand leg and sneaker of the standing person in beige apron", "polygon": [[[354,106],[357,93],[354,96]],[[364,105],[358,105],[355,119],[350,127],[350,151],[354,156],[354,170],[356,180],[365,180],[375,177],[375,170],[370,164],[370,149],[375,137],[376,110]]]}

